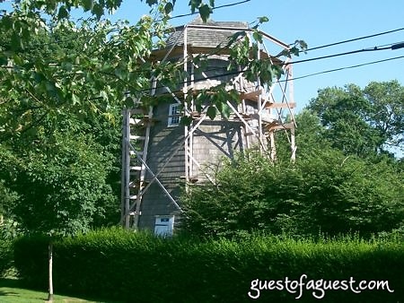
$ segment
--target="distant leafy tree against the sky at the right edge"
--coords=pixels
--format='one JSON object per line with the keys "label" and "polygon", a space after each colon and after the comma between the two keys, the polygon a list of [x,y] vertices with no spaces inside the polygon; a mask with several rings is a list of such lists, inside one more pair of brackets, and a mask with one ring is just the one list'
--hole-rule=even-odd
{"label": "distant leafy tree against the sky at the right edge", "polygon": [[333,147],[361,157],[403,148],[404,88],[397,81],[319,91],[308,108]]}

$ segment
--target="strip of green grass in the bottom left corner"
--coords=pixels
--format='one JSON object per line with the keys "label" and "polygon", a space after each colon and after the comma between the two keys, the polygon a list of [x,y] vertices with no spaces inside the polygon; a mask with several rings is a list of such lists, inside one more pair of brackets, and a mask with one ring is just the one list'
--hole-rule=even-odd
{"label": "strip of green grass in the bottom left corner", "polygon": [[[2,303],[43,303],[48,302],[48,292],[28,290],[22,287],[21,281],[13,278],[0,279],[0,302]],[[119,303],[106,300],[78,299],[66,295],[54,295],[55,303]]]}

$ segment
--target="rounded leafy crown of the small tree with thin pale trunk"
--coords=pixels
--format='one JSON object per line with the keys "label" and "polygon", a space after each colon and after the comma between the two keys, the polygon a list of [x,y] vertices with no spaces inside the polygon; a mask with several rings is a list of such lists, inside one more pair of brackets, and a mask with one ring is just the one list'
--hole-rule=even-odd
{"label": "rounded leafy crown of the small tree with thin pale trunk", "polygon": [[88,229],[96,212],[102,215],[114,203],[106,183],[113,163],[110,155],[89,134],[56,132],[40,139],[40,148],[26,146],[0,159],[13,165],[13,171],[2,173],[9,188],[20,195],[9,212],[31,231],[63,234]]}

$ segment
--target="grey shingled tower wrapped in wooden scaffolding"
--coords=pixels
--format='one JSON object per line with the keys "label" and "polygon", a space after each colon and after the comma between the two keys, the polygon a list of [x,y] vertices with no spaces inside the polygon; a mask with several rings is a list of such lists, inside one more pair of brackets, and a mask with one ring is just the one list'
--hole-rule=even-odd
{"label": "grey shingled tower wrapped in wooden scaffolding", "polygon": [[[181,185],[212,180],[209,168],[220,165],[223,157],[234,152],[257,148],[276,159],[275,135],[285,131],[291,144],[291,159],[295,157],[294,94],[292,65],[288,58],[281,61],[270,56],[290,47],[264,32],[257,56],[276,60],[284,75],[270,87],[259,80],[248,82],[240,74],[225,74],[229,49],[225,45],[234,33],[252,34],[244,22],[206,22],[200,20],[178,27],[164,49],[156,50],[154,60],[178,60],[183,63],[189,78],[180,92],[172,92],[152,81],[152,95],[165,94],[168,102],[154,107],[139,106],[127,109],[123,115],[122,140],[122,207],[121,222],[127,229],[152,229],[156,234],[171,234],[180,218]],[[190,60],[198,54],[208,56],[208,66],[202,74],[193,73]],[[215,55],[211,55],[215,54]],[[224,74],[224,76],[222,76]],[[241,100],[228,100],[232,109],[228,118],[206,116],[206,108],[198,113],[188,104],[180,114],[179,105],[199,91],[231,82],[240,92]],[[189,92],[190,91],[190,92]],[[192,98],[191,98],[192,100]],[[190,126],[180,126],[181,115],[192,117]],[[285,116],[290,117],[288,123]]]}

